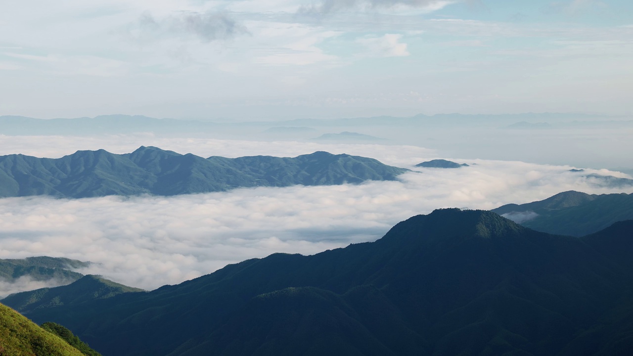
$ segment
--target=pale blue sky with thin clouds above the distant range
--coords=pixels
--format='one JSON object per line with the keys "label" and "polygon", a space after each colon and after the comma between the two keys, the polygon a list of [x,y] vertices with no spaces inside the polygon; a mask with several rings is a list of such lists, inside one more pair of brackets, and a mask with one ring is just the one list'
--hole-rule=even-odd
{"label": "pale blue sky with thin clouds above the distant range", "polygon": [[629,0],[44,0],[0,12],[0,115],[632,115]]}

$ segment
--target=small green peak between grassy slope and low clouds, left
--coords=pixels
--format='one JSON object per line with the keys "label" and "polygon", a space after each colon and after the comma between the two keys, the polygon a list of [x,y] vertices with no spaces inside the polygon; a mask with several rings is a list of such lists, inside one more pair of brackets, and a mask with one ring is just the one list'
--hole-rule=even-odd
{"label": "small green peak between grassy slope and low clouds, left", "polygon": [[124,286],[99,276],[88,275],[66,286],[14,293],[4,298],[2,302],[18,312],[25,313],[38,308],[76,305],[90,300],[111,298],[121,293],[139,291],[143,290]]}

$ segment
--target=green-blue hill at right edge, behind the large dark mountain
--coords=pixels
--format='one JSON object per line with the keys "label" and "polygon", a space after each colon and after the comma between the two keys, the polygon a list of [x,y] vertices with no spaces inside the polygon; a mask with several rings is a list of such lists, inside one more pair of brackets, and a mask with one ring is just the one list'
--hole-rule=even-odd
{"label": "green-blue hill at right edge, behind the large dark mountain", "polygon": [[566,191],[532,203],[503,205],[492,212],[537,231],[584,236],[633,219],[633,194]]}

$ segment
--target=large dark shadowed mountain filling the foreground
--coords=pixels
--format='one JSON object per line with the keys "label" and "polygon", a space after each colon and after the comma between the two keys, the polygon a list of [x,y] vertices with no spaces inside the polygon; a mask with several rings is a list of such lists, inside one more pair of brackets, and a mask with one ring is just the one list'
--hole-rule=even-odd
{"label": "large dark shadowed mountain filling the foreground", "polygon": [[633,221],[572,238],[436,210],[373,243],[25,315],[103,355],[629,355],[632,238]]}

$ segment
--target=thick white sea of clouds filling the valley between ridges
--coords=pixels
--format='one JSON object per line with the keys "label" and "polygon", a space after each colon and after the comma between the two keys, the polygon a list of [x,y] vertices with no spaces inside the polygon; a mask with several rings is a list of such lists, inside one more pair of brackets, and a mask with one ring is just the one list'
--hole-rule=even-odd
{"label": "thick white sea of clouds filling the valley between ridges", "polygon": [[[436,208],[491,209],[542,200],[561,191],[633,193],[606,188],[589,173],[606,170],[525,162],[460,160],[470,167],[415,168],[431,149],[376,144],[263,143],[147,136],[0,136],[0,155],[59,157],[77,149],[127,153],[158,146],[200,156],[296,156],[349,153],[416,172],[399,181],[342,186],[235,189],[180,196],[0,199],[0,258],[67,257],[94,262],[80,270],[144,289],[176,284],[275,252],[313,254],[380,238],[394,224]],[[446,157],[442,157],[446,158]],[[451,159],[451,158],[449,158]],[[580,167],[579,167],[580,168]],[[51,285],[59,284],[51,281]],[[0,295],[44,286],[0,284]]]}

